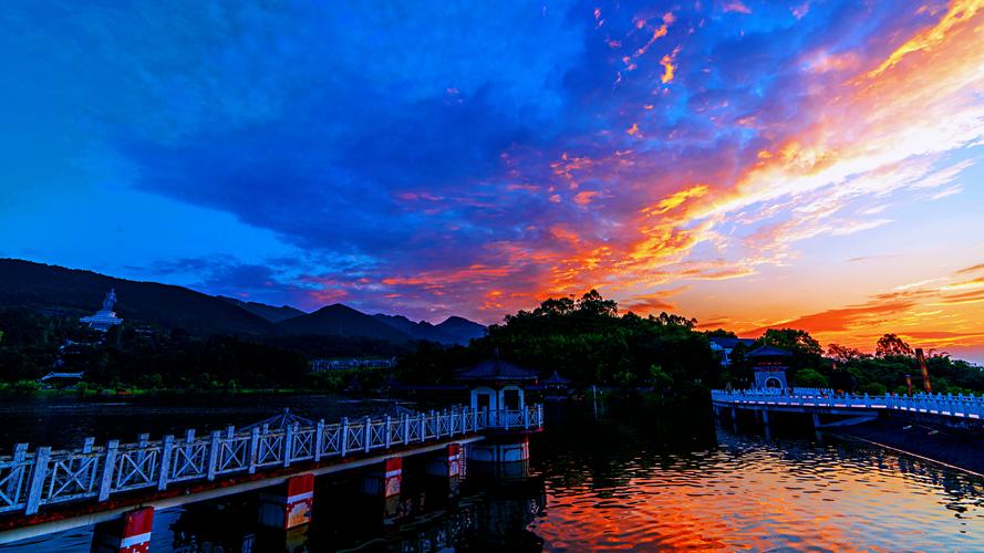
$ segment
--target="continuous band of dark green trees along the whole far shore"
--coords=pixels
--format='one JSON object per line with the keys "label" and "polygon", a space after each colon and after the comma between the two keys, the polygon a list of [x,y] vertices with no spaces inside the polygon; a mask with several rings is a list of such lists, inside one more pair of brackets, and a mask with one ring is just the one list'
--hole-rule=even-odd
{"label": "continuous band of dark green trees along the whole far shore", "polygon": [[[876,344],[876,355],[830,344],[825,352],[807,332],[767,331],[750,346],[739,344],[732,364],[719,366],[708,345],[718,330],[695,330],[696,321],[669,313],[620,314],[618,305],[590,291],[580,299],[548,299],[532,311],[508,315],[468,346],[417,342],[414,349],[350,336],[257,336],[193,334],[183,328],[134,326],[100,334],[74,315],[0,307],[0,396],[54,393],[37,380],[51,371],[84,372],[74,386],[81,396],[100,393],[249,393],[251,390],[384,390],[394,378],[405,384],[449,384],[454,369],[500,356],[549,374],[558,371],[576,387],[653,389],[661,396],[695,396],[712,387],[747,387],[753,382],[748,351],[773,345],[791,352],[788,379],[795,386],[880,394],[904,393],[905,375],[922,389],[913,349],[893,334]],[[398,356],[393,369],[308,371],[313,357]],[[933,390],[984,392],[984,371],[930,351]]]}

